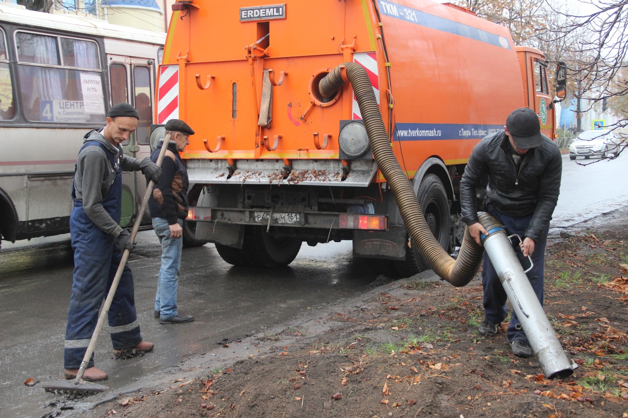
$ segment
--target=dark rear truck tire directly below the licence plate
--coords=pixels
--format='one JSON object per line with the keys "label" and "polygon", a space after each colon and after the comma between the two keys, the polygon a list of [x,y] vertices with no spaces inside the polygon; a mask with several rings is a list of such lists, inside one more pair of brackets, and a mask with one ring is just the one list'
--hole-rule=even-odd
{"label": "dark rear truck tire directly below the licence plate", "polygon": [[300,239],[273,238],[271,234],[266,233],[265,226],[247,226],[244,231],[242,253],[252,266],[285,267],[292,263],[300,249]]}

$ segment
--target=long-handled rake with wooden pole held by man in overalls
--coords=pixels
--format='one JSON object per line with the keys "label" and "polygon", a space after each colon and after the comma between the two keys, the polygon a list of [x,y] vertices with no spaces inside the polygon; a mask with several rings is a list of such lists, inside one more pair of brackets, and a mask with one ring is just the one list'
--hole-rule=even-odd
{"label": "long-handled rake with wooden pole held by man in overalls", "polygon": [[[166,150],[168,149],[170,135],[166,135],[166,138],[164,138],[163,142],[164,144],[161,146],[161,152],[156,163],[160,167],[161,161],[163,160],[163,157],[166,154]],[[135,241],[135,236],[138,234],[139,223],[141,222],[144,211],[146,210],[146,205],[148,205],[148,198],[153,192],[153,187],[154,182],[153,180],[151,180],[148,182],[148,186],[146,187],[146,193],[144,193],[144,200],[142,201],[142,206],[139,209],[138,217],[135,220],[135,224],[133,225],[133,230],[131,230],[131,243]],[[98,335],[100,334],[100,330],[102,330],[102,325],[104,325],[105,323],[105,318],[107,317],[107,313],[109,312],[109,308],[111,307],[111,302],[114,298],[114,295],[116,294],[117,285],[120,282],[120,278],[122,277],[122,271],[124,271],[124,266],[128,258],[129,250],[125,249],[124,253],[122,253],[122,259],[120,260],[120,264],[116,271],[114,281],[113,283],[111,283],[111,288],[109,289],[109,294],[107,295],[105,304],[102,306],[102,310],[100,311],[100,315],[98,316],[98,322],[96,323],[96,328],[94,330],[94,333],[92,334],[92,338],[89,341],[89,345],[87,346],[87,351],[83,356],[83,361],[80,363],[80,368],[78,368],[77,377],[72,380],[45,382],[43,383],[43,387],[46,392],[56,392],[58,394],[91,395],[109,390],[108,386],[99,385],[97,383],[87,382],[83,380],[83,374],[85,373],[85,369],[87,368],[89,359],[92,357],[92,353],[94,352],[96,340],[98,340]]]}

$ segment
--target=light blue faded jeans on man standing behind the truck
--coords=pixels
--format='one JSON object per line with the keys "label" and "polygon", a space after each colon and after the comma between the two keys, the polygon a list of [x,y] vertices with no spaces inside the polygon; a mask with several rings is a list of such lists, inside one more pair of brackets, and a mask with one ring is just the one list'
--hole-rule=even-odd
{"label": "light blue faded jeans on man standing behind the truck", "polygon": [[[183,226],[183,219],[178,219]],[[171,238],[168,221],[163,217],[153,218],[153,228],[161,243],[161,268],[157,280],[155,310],[160,311],[160,318],[176,316],[176,287],[181,269],[181,249],[183,237]]]}

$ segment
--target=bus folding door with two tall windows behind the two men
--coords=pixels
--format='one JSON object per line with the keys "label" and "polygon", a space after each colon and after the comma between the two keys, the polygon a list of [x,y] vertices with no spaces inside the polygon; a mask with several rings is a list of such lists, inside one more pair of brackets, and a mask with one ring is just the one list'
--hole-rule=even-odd
{"label": "bus folding door with two tall windows behind the two men", "polygon": [[[149,136],[153,110],[151,108],[154,85],[153,60],[132,56],[107,55],[111,105],[131,103],[139,113],[138,128],[129,140],[122,143],[124,154],[144,159],[150,156]],[[122,217],[121,226],[128,226],[135,220],[146,191],[146,179],[139,172],[122,173]],[[150,216],[144,214],[144,222]]]}

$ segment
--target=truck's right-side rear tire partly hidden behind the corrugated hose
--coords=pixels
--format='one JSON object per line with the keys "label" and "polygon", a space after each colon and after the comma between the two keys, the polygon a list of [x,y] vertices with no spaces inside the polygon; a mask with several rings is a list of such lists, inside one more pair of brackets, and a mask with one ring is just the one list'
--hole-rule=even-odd
{"label": "truck's right-side rear tire partly hidden behind the corrugated hose", "polygon": [[[447,250],[450,242],[449,200],[445,185],[436,174],[427,174],[421,180],[417,193],[419,204],[423,209],[425,220],[430,225],[436,241],[443,249]],[[409,277],[426,269],[425,263],[416,251],[416,246],[406,246],[406,259],[395,261],[395,267],[402,277]]]}

